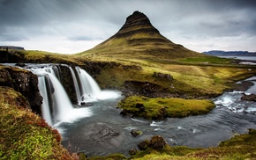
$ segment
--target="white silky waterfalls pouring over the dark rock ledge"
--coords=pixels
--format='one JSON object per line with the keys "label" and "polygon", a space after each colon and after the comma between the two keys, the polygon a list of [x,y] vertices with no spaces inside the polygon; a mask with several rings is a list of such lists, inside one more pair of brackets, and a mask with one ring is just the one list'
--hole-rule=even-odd
{"label": "white silky waterfalls pouring over the dark rock ledge", "polygon": [[[77,99],[76,105],[87,104],[106,98],[120,97],[120,93],[109,91],[101,91],[99,85],[94,78],[87,74],[87,71],[75,67],[74,69],[68,65],[62,65],[70,70],[72,81],[70,85],[74,86]],[[41,67],[30,68],[35,75],[38,76],[38,87],[43,98],[41,105],[42,118],[49,125],[55,126],[62,122],[72,122],[83,117],[89,117],[93,113],[87,107],[73,107],[73,104],[64,90],[61,69],[58,65],[45,65]],[[106,96],[108,95],[108,96]],[[109,97],[109,95],[111,95]]]}

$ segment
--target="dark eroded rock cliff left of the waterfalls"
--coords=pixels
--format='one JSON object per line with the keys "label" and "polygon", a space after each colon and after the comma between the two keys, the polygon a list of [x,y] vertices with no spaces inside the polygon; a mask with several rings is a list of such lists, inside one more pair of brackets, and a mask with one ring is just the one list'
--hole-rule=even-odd
{"label": "dark eroded rock cliff left of the waterfalls", "polygon": [[42,98],[38,89],[38,78],[32,72],[0,65],[0,86],[8,86],[20,92],[33,112],[41,114]]}

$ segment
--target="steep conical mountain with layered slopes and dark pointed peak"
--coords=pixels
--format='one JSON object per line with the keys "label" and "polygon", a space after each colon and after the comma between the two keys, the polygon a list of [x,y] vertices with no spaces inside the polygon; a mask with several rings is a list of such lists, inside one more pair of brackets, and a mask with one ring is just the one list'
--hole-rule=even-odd
{"label": "steep conical mountain with layered slopes and dark pointed peak", "polygon": [[147,16],[139,11],[126,18],[115,35],[81,54],[136,59],[176,59],[201,55],[162,36]]}

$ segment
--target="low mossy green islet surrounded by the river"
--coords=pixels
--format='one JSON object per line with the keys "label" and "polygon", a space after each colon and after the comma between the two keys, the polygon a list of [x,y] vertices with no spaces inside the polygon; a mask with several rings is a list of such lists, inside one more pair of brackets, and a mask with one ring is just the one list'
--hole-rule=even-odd
{"label": "low mossy green islet surrounded by the river", "polygon": [[125,98],[118,106],[124,109],[125,113],[148,120],[199,115],[208,113],[215,108],[215,104],[210,100],[137,96]]}

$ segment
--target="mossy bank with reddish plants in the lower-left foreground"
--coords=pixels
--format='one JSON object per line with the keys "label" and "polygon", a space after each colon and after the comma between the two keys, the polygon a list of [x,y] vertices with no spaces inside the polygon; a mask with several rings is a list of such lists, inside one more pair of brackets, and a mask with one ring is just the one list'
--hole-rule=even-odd
{"label": "mossy bank with reddish plants in the lower-left foreground", "polygon": [[0,87],[0,159],[74,159],[57,130],[26,105],[19,92]]}

